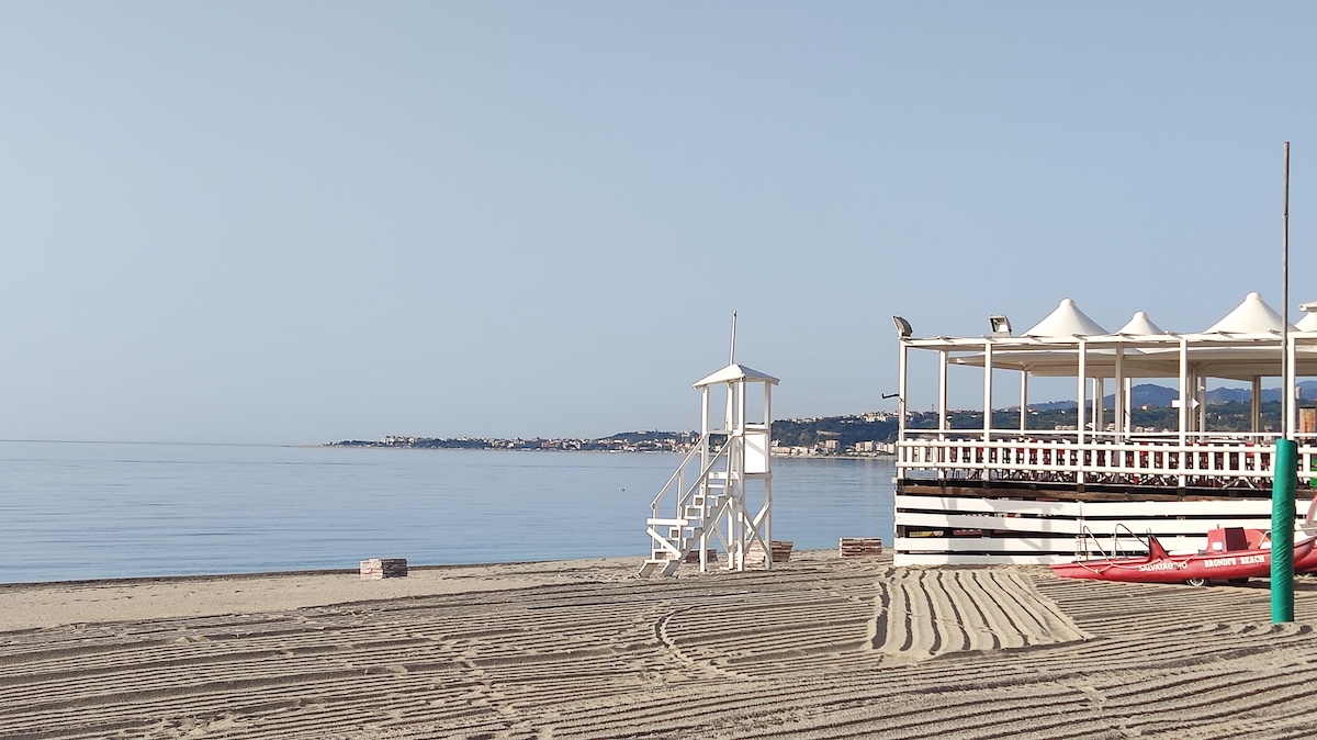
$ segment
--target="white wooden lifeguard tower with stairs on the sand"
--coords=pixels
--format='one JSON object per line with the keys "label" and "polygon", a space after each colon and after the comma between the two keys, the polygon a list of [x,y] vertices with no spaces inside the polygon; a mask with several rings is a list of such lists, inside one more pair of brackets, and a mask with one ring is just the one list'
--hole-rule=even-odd
{"label": "white wooden lifeguard tower with stairs on the sand", "polygon": [[727,552],[731,570],[745,570],[753,554],[761,554],[764,568],[773,566],[769,449],[776,384],[777,378],[735,362],[695,382],[699,441],[651,504],[645,531],[653,546],[640,575],[672,575],[697,552],[705,571],[716,552],[711,545]]}

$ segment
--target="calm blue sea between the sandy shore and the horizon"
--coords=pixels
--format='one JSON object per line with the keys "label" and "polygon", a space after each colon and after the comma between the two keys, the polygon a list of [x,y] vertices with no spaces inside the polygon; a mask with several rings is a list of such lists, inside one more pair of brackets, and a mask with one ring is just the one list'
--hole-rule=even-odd
{"label": "calm blue sea between the sandy shore and the horizon", "polygon": [[[0,442],[0,582],[636,556],[678,456]],[[774,460],[773,539],[890,541],[890,460]]]}

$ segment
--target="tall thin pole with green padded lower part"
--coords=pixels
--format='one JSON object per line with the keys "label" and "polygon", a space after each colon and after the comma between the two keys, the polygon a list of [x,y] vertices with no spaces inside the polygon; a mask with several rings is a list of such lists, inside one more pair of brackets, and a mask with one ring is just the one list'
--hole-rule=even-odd
{"label": "tall thin pole with green padded lower part", "polygon": [[1285,142],[1285,205],[1281,215],[1280,438],[1271,467],[1271,621],[1295,620],[1295,489],[1299,445],[1289,438],[1295,390],[1289,383],[1289,142]]}

